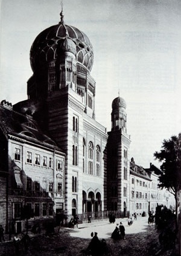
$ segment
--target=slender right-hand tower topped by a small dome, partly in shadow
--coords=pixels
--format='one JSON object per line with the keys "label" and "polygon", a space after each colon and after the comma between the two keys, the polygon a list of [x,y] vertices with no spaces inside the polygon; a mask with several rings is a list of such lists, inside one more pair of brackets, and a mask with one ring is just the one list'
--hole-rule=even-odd
{"label": "slender right-hand tower topped by a small dome, partly in shadow", "polygon": [[112,101],[111,131],[107,140],[107,207],[126,217],[130,211],[130,135],[127,134],[126,103]]}

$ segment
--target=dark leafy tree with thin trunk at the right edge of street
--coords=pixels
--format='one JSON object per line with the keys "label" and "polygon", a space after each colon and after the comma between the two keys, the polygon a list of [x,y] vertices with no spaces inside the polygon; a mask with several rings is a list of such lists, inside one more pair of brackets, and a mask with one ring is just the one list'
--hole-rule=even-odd
{"label": "dark leafy tree with thin trunk at the right edge of street", "polygon": [[159,187],[167,188],[176,200],[176,228],[177,208],[181,190],[181,133],[178,136],[171,136],[164,139],[160,152],[155,152],[154,157],[162,162],[160,169],[162,174],[159,177]]}

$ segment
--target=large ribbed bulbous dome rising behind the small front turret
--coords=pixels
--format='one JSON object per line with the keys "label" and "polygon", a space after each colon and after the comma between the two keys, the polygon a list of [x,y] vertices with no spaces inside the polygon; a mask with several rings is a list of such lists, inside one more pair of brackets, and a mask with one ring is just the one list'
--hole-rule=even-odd
{"label": "large ribbed bulbous dome rising behind the small front turret", "polygon": [[[61,48],[62,45],[65,45],[65,48]],[[48,62],[57,59],[61,50],[68,49],[73,53],[76,50],[77,62],[89,71],[92,69],[94,53],[89,38],[77,28],[61,22],[46,28],[34,40],[30,51],[31,68],[33,71],[45,68]]]}

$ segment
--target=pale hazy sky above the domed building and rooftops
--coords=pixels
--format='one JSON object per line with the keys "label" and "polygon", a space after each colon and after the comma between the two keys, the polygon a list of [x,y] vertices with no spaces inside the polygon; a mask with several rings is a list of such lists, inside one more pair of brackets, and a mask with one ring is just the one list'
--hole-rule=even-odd
{"label": "pale hazy sky above the domed building and rooftops", "polygon": [[[60,21],[59,0],[0,0],[0,101],[27,99],[30,48]],[[181,1],[66,0],[65,24],[94,47],[96,120],[110,130],[112,101],[127,103],[130,158],[148,168],[162,141],[181,132]]]}

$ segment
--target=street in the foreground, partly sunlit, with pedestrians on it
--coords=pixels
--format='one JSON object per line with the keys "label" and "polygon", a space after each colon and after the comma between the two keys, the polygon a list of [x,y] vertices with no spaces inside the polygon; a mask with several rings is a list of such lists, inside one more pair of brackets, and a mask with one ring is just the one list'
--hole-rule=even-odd
{"label": "street in the foreground, partly sunlit, with pedestrians on it", "polygon": [[[116,223],[122,222],[125,226],[125,240],[113,241],[110,238]],[[138,217],[132,226],[127,225],[126,219],[117,219],[116,222],[109,223],[102,220],[92,223],[83,223],[78,228],[61,228],[60,232],[51,235],[31,235],[31,243],[27,256],[78,256],[81,249],[87,248],[90,242],[90,232],[98,232],[98,237],[105,238],[109,252],[107,255],[113,256],[153,256],[160,249],[158,242],[159,233],[154,225],[148,226],[147,217]],[[14,254],[13,242],[5,242],[0,245],[1,256],[11,256]],[[19,255],[25,255],[21,252]],[[171,254],[159,254],[171,255]],[[172,254],[173,255],[173,254]]]}

